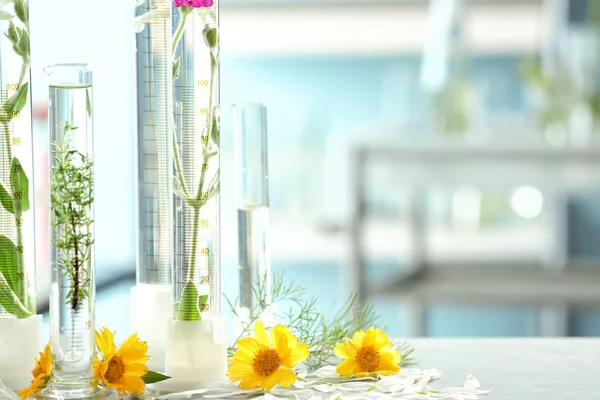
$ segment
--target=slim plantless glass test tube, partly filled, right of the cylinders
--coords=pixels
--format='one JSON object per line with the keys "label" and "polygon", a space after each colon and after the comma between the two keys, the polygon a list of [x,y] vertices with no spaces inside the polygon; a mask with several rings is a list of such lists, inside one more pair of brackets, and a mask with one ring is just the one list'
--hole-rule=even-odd
{"label": "slim plantless glass test tube, partly filled, right of the cylinders", "polygon": [[[252,310],[258,305],[265,310],[260,318],[271,325],[274,315],[271,309],[272,278],[268,248],[267,109],[262,104],[250,103],[235,104],[232,110],[242,304],[242,309],[238,311],[242,321],[238,323],[244,324],[254,317]],[[260,298],[255,298],[255,295]]]}

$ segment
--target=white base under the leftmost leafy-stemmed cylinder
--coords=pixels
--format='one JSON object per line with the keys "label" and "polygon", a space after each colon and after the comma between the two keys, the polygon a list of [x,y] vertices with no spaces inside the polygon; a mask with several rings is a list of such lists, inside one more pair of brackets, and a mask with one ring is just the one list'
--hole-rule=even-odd
{"label": "white base under the leftmost leafy-stemmed cylinder", "polygon": [[7,387],[29,387],[34,359],[43,350],[41,315],[0,318],[0,379]]}

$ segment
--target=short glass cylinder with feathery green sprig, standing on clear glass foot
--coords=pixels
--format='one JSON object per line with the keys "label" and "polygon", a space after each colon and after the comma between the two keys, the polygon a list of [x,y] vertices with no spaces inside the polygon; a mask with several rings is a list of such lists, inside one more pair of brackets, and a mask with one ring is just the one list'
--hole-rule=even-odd
{"label": "short glass cylinder with feathery green sprig, standing on clear glass foot", "polygon": [[50,78],[50,348],[52,376],[36,398],[112,398],[92,386],[94,145],[92,71],[45,68]]}

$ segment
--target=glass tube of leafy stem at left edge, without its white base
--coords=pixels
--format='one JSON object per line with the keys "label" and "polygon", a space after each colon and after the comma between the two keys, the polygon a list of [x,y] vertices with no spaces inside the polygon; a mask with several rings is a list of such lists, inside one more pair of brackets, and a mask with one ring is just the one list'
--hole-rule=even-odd
{"label": "glass tube of leafy stem at left edge, without its white base", "polygon": [[0,318],[36,313],[29,8],[14,7],[0,21]]}

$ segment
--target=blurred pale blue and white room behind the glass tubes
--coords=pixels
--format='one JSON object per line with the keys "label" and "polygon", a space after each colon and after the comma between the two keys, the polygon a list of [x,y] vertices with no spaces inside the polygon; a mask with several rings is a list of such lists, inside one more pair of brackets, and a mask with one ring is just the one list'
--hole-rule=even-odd
{"label": "blurred pale blue and white room behind the glass tubes", "polygon": [[[86,61],[97,325],[122,337],[136,252],[124,3],[31,6],[39,305],[49,286],[42,67]],[[600,2],[220,6],[226,295],[238,290],[228,107],[263,102],[273,269],[323,312],[357,292],[396,337],[600,335]]]}

